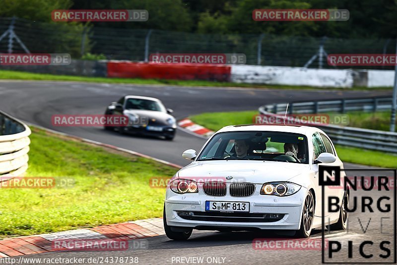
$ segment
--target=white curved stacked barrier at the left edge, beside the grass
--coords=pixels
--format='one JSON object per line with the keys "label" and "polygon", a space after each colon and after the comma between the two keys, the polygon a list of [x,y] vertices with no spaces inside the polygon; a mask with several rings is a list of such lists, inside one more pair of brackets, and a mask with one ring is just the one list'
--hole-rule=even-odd
{"label": "white curved stacked barrier at the left edge, beside the grass", "polygon": [[25,174],[30,133],[21,121],[0,111],[0,181]]}

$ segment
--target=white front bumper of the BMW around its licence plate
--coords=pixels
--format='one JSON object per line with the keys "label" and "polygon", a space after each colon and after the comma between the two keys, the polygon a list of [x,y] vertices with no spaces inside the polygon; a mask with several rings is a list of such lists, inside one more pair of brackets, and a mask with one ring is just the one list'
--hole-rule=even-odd
{"label": "white front bumper of the BMW around its licence plate", "polygon": [[[290,196],[261,195],[262,184],[249,197],[209,196],[202,189],[198,193],[177,194],[167,189],[165,213],[168,226],[196,229],[275,229],[299,230],[307,189]],[[250,210],[240,212],[205,211],[205,201],[249,202]]]}

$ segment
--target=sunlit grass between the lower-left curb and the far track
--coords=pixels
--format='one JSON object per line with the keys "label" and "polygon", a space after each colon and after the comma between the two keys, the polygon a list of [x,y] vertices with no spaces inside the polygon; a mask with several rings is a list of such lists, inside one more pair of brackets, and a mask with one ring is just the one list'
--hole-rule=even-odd
{"label": "sunlit grass between the lower-left curb and the far track", "polygon": [[67,177],[69,188],[5,189],[0,192],[0,237],[33,235],[161,217],[164,189],[151,177],[177,169],[32,128],[26,176]]}

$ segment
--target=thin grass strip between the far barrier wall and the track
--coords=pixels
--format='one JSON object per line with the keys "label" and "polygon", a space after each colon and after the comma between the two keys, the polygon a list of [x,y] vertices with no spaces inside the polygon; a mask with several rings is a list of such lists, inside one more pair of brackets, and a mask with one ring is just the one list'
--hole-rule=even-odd
{"label": "thin grass strip between the far barrier wall and the track", "polygon": [[110,84],[137,84],[137,85],[175,85],[195,87],[238,87],[238,88],[283,88],[283,89],[346,89],[346,90],[373,90],[392,89],[391,87],[380,88],[317,88],[309,86],[281,86],[265,84],[238,84],[231,82],[213,82],[200,80],[156,80],[156,79],[129,79],[129,78],[103,78],[103,77],[79,77],[50,74],[36,74],[18,71],[0,71],[0,80],[37,80],[37,81],[75,81],[75,82],[96,82]]}

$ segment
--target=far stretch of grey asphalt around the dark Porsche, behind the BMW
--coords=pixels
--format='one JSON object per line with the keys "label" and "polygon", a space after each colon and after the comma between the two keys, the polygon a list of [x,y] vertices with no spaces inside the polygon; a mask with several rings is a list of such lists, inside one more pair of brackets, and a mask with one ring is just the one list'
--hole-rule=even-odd
{"label": "far stretch of grey asphalt around the dark Porsche, behind the BMW", "polygon": [[193,88],[67,82],[0,82],[0,110],[32,124],[115,145],[185,166],[186,149],[199,150],[203,138],[177,131],[174,141],[124,136],[99,127],[54,127],[54,114],[103,114],[126,94],[160,98],[177,119],[214,111],[257,110],[260,105],[297,100],[389,96],[392,91]]}

